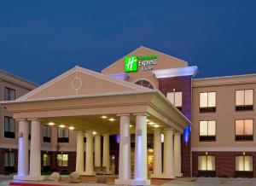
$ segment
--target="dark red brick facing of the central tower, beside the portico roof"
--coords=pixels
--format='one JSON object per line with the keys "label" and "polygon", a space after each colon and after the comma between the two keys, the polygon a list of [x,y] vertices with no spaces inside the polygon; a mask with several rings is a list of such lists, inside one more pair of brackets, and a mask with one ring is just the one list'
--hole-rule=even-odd
{"label": "dark red brick facing of the central tower, beside the portico roof", "polygon": [[[159,79],[159,90],[166,96],[167,92],[175,91],[183,92],[183,107],[182,113],[191,119],[191,76],[182,76],[174,78],[160,78]],[[190,138],[190,136],[189,136]],[[183,177],[190,177],[190,141],[184,142],[182,137],[182,172]]]}

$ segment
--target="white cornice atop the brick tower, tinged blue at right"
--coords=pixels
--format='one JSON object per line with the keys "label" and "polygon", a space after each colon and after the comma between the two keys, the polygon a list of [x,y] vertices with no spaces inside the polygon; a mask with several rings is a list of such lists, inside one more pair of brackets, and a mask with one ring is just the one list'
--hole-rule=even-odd
{"label": "white cornice atop the brick tower, tinged blue at right", "polygon": [[156,78],[194,76],[196,72],[197,72],[197,66],[177,67],[177,68],[168,68],[168,69],[160,69],[160,70],[152,71],[152,73],[154,73]]}

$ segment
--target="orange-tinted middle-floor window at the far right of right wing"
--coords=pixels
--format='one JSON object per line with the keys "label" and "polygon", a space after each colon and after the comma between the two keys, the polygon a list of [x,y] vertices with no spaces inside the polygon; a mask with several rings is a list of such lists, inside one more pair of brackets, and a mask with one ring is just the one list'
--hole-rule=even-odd
{"label": "orange-tinted middle-floor window at the far right of right wing", "polygon": [[253,119],[236,120],[236,141],[253,140]]}

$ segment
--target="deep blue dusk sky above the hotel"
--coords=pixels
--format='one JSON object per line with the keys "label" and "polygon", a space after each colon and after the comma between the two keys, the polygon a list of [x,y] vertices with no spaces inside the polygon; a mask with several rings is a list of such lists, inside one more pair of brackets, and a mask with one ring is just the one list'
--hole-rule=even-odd
{"label": "deep blue dusk sky above the hotel", "polygon": [[197,65],[197,78],[256,73],[256,1],[2,1],[0,68],[43,84],[100,72],[139,46]]}

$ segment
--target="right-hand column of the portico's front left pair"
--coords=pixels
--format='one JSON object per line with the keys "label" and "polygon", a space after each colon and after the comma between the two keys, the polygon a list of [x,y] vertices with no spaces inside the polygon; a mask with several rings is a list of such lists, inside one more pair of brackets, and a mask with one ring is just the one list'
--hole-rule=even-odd
{"label": "right-hand column of the portico's front left pair", "polygon": [[29,180],[42,180],[41,176],[41,124],[39,119],[31,120],[30,171]]}

